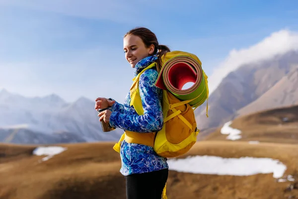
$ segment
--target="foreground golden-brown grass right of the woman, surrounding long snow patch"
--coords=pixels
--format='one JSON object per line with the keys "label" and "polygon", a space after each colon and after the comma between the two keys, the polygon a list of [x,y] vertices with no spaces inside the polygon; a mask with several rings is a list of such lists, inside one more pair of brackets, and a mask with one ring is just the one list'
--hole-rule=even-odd
{"label": "foreground golden-brown grass right of the woman, surrounding long snow patch", "polygon": [[[298,146],[287,144],[251,145],[246,142],[202,141],[181,158],[188,155],[212,155],[225,158],[268,157],[279,159],[288,167],[286,174],[293,175],[298,179],[297,150]],[[298,188],[291,192],[285,191],[290,185],[298,186],[297,182],[278,183],[272,174],[240,177],[171,172],[168,184],[170,187],[169,199],[285,199],[289,196],[298,197]]]}

